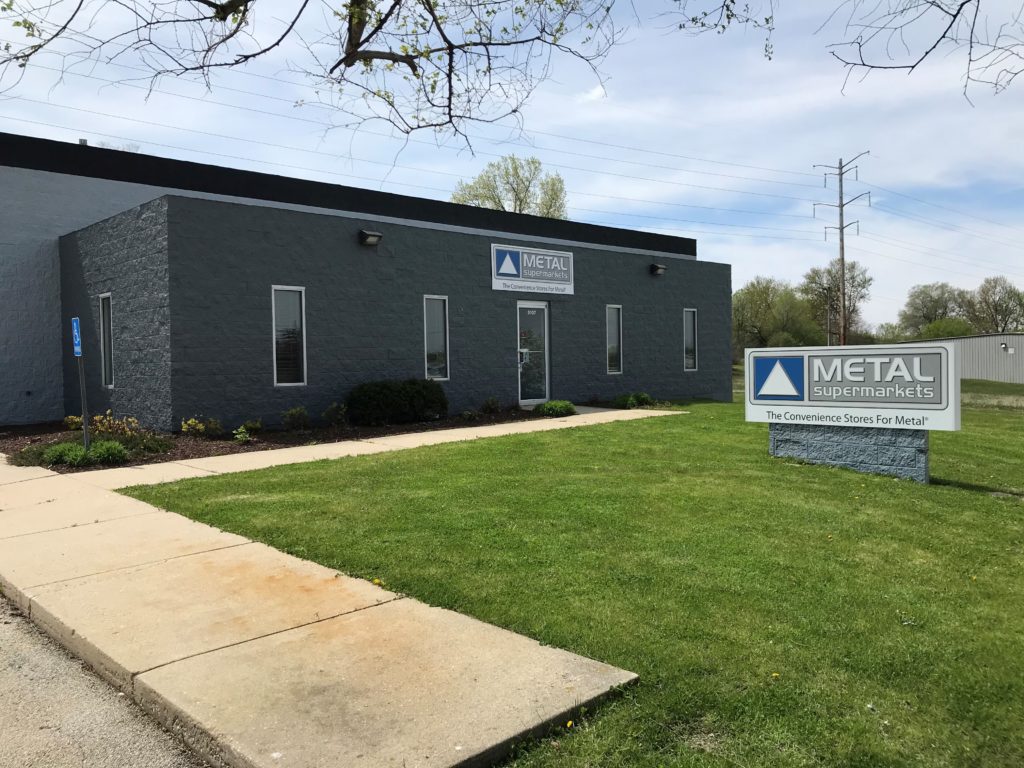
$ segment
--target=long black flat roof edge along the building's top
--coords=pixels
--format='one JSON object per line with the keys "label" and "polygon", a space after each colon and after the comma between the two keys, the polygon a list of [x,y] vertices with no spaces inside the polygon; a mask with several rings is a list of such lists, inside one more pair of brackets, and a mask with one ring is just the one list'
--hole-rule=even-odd
{"label": "long black flat roof edge along the building's top", "polygon": [[696,257],[696,240],[0,132],[0,166]]}

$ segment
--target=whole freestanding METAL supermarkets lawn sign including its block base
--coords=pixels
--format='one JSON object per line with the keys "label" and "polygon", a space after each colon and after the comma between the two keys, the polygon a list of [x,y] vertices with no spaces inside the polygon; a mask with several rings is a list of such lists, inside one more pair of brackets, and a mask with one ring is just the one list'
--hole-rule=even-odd
{"label": "whole freestanding METAL supermarkets lawn sign including its block base", "polygon": [[957,430],[951,344],[748,349],[746,421],[772,456],[928,482],[928,432]]}

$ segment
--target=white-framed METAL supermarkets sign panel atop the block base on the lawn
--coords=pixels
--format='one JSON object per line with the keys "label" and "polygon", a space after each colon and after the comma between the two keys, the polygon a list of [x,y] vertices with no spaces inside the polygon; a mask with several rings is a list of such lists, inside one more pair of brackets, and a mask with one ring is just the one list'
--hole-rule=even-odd
{"label": "white-framed METAL supermarkets sign panel atop the block base on the lawn", "polygon": [[951,344],[748,349],[746,421],[959,429]]}

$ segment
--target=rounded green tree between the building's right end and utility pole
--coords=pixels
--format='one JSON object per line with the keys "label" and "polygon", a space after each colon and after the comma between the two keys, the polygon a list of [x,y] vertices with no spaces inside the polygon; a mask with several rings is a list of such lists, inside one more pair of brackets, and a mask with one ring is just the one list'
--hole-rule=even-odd
{"label": "rounded green tree between the building's right end and utility pole", "polygon": [[821,344],[824,335],[807,301],[792,286],[755,278],[732,297],[733,355],[746,347]]}

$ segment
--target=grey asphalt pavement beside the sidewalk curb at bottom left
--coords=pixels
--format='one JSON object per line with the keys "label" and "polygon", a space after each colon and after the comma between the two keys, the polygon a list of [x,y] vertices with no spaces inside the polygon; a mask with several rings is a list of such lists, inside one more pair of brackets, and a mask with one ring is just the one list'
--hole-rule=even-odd
{"label": "grey asphalt pavement beside the sidewalk curb at bottom left", "polygon": [[206,768],[0,597],[0,766]]}

